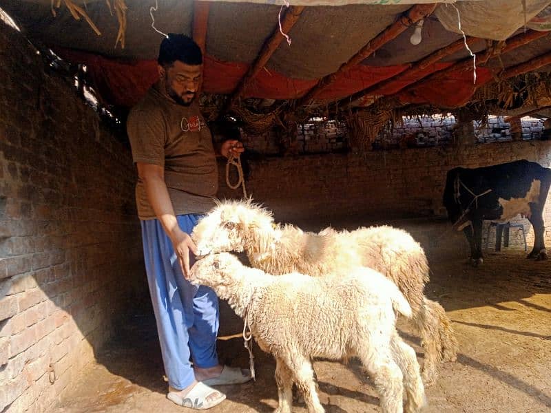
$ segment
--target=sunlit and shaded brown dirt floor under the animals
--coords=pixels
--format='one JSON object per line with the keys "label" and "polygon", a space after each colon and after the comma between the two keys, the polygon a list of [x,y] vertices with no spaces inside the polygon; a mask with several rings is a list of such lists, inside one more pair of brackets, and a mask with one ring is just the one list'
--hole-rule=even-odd
{"label": "sunlit and shaded brown dirt floor under the animals", "polygon": [[[443,226],[411,229],[426,242],[432,268],[426,295],[446,308],[460,345],[455,363],[426,388],[427,412],[551,412],[551,261],[526,260],[524,251],[488,253],[472,268],[464,240],[435,240]],[[451,240],[451,241],[450,241]],[[431,248],[432,246],[433,248]],[[450,253],[452,251],[453,253]],[[222,303],[218,350],[231,366],[248,366],[242,324]],[[419,339],[399,325],[417,350]],[[235,335],[235,336],[233,336]],[[233,337],[232,337],[233,336]],[[220,386],[227,401],[213,413],[271,412],[277,405],[273,359],[255,347],[257,381]],[[327,412],[377,412],[379,399],[357,361],[315,362]],[[163,365],[150,313],[135,315],[89,366],[56,412],[183,412],[165,398]],[[305,412],[304,405],[295,405]]]}

